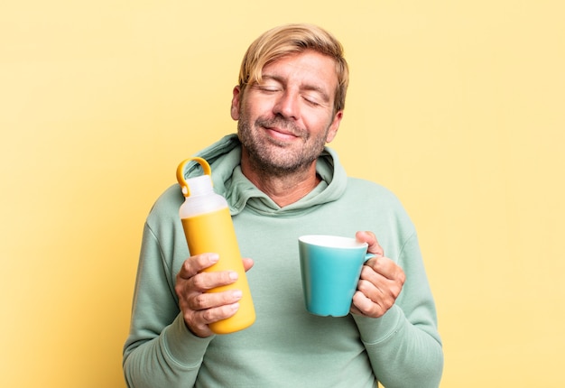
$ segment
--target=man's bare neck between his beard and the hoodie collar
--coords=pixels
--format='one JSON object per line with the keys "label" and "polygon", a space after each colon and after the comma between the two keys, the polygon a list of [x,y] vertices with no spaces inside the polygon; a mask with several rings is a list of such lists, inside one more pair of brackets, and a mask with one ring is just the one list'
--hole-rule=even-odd
{"label": "man's bare neck between his beard and the hoodie collar", "polygon": [[249,162],[247,152],[242,152],[241,171],[248,180],[263,191],[273,202],[281,208],[291,205],[305,197],[320,183],[316,174],[316,162],[312,162],[307,169],[292,171],[280,176],[270,174],[268,171],[254,169]]}

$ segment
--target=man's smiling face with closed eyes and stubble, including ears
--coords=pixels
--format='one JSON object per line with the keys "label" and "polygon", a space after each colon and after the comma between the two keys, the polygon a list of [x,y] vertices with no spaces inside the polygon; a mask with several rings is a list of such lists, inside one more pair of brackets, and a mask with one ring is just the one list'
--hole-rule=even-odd
{"label": "man's smiling face with closed eyes and stubble, including ears", "polygon": [[234,89],[231,115],[255,168],[272,174],[307,169],[333,140],[343,113],[334,113],[334,61],[303,51],[268,64],[261,83]]}

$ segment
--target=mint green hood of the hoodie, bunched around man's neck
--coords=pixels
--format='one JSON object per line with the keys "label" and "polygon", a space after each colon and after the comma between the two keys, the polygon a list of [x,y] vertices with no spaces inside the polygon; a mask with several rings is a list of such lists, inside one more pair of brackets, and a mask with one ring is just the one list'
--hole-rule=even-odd
{"label": "mint green hood of the hoodie, bunched around man's neck", "polygon": [[[227,199],[232,216],[245,207],[257,213],[270,216],[291,216],[304,213],[311,208],[339,199],[347,186],[347,174],[338,162],[338,155],[325,147],[316,163],[316,171],[321,177],[320,184],[304,198],[281,208],[273,202],[241,171],[241,143],[236,134],[228,134],[217,143],[198,152],[194,156],[205,159],[212,169],[214,191]],[[190,162],[184,170],[184,178],[189,179],[203,173],[197,162]]]}

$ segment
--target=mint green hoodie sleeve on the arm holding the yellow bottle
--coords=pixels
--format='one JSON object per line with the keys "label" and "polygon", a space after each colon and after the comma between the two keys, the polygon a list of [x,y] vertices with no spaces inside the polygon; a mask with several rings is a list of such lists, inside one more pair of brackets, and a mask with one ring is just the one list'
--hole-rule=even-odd
{"label": "mint green hoodie sleeve on the arm holding the yellow bottle", "polygon": [[161,246],[146,224],[132,323],[124,346],[124,373],[130,388],[187,387],[196,381],[212,337],[196,337],[186,328],[173,284]]}

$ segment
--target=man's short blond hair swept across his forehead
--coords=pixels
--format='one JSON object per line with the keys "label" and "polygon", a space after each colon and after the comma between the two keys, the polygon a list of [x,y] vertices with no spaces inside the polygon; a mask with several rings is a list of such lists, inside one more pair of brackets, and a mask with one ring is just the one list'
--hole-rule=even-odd
{"label": "man's short blond hair swept across his forehead", "polygon": [[318,51],[336,62],[338,88],[334,100],[334,113],[343,110],[346,102],[349,69],[343,56],[341,43],[329,32],[312,24],[285,24],[264,32],[245,52],[239,70],[239,87],[262,80],[265,65],[286,55],[305,50]]}

